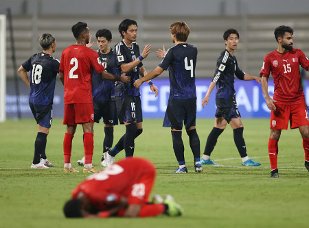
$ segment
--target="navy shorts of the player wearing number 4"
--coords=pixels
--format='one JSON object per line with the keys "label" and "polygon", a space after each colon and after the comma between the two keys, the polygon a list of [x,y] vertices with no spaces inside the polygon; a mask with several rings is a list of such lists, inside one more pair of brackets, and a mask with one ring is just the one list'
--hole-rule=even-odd
{"label": "navy shorts of the player wearing number 4", "polygon": [[176,130],[189,129],[195,126],[196,121],[196,98],[168,100],[168,107],[165,112],[163,127],[172,127]]}

